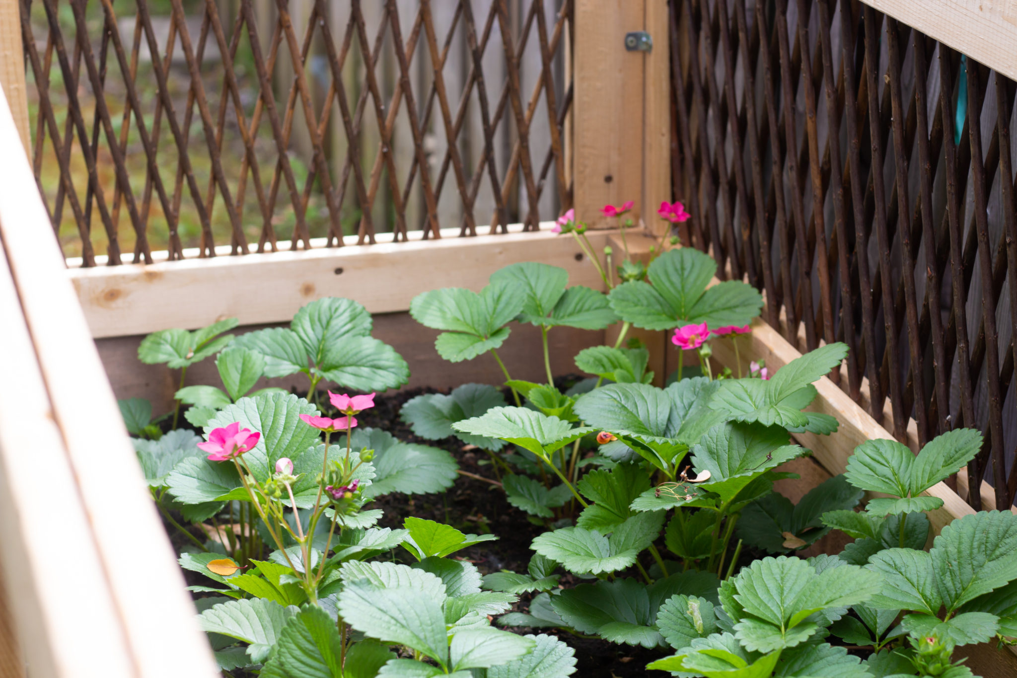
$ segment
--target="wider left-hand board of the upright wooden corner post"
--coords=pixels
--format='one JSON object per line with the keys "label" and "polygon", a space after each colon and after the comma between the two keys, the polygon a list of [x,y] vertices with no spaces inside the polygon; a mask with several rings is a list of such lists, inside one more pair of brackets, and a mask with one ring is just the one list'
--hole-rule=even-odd
{"label": "wider left-hand board of the upright wooden corner post", "polygon": [[635,200],[630,215],[637,223],[643,208],[646,57],[626,52],[624,39],[629,32],[645,29],[645,2],[578,0],[574,10],[574,203],[577,219],[592,228],[616,226],[600,213],[605,203]]}

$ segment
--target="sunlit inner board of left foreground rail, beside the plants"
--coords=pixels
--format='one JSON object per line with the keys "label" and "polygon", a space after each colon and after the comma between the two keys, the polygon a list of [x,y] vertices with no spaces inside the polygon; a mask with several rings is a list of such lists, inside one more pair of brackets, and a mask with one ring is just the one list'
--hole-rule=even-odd
{"label": "sunlit inner board of left foreground rail, beside the plants", "polygon": [[[0,242],[48,392],[47,415],[59,428],[76,484],[76,514],[94,540],[108,582],[106,600],[131,655],[129,675],[219,676],[81,307],[61,274],[64,261],[2,94],[0,156],[5,159],[0,163]],[[32,456],[37,450],[22,444],[12,451]],[[43,476],[48,471],[38,467],[35,472]],[[50,500],[61,505],[63,497],[55,490]],[[63,525],[62,518],[50,525],[51,539],[65,539],[62,533],[52,534]],[[56,576],[69,576],[62,570],[73,570],[75,555],[62,552],[57,564],[63,567]],[[79,600],[67,598],[65,614],[87,628],[93,615],[78,607]],[[96,675],[101,666],[80,664],[73,673],[56,676]]]}

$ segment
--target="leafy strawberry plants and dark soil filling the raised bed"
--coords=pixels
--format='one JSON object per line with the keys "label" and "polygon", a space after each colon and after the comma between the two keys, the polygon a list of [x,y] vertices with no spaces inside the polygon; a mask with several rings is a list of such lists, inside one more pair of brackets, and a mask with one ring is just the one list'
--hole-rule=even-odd
{"label": "leafy strawberry plants and dark soil filling the raised bed", "polygon": [[[936,675],[918,671],[1013,633],[1017,516],[973,514],[942,484],[980,434],[916,457],[877,440],[823,376],[846,349],[794,356],[750,327],[759,293],[711,285],[714,265],[672,250],[623,266],[623,283],[605,274],[604,294],[520,263],[479,295],[413,301],[451,370],[504,370],[516,323],[536,325],[543,383],[505,372],[503,386],[371,395],[405,384],[407,365],[337,298],[291,328],[233,337],[227,320],[142,342],[144,362],[171,368],[218,356],[222,381],[179,390],[160,421],[122,407],[223,670]],[[549,332],[619,320],[612,345],[551,364]],[[631,325],[673,333],[699,368],[652,385]],[[303,385],[254,390],[291,374]],[[982,675],[1007,660],[993,653]]]}

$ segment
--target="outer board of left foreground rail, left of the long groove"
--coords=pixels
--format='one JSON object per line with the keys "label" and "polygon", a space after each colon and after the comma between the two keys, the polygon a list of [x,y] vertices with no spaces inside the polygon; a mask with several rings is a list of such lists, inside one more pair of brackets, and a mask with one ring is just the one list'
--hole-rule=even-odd
{"label": "outer board of left foreground rail, left of the long groove", "polygon": [[[0,559],[18,650],[4,678],[136,675],[0,243]],[[8,640],[9,642],[9,640]],[[5,642],[7,644],[7,642]],[[15,666],[19,665],[19,666]]]}

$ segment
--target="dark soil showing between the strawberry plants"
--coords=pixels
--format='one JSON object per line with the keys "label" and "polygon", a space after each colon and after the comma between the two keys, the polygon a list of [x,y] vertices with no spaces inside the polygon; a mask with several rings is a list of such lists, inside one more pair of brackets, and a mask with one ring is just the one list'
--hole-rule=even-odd
{"label": "dark soil showing between the strawberry plants", "polygon": [[[563,378],[559,387],[565,388],[576,379]],[[377,395],[374,407],[357,415],[360,426],[380,428],[388,431],[400,440],[432,445],[447,449],[459,461],[461,470],[494,479],[494,474],[486,455],[455,438],[445,440],[425,440],[413,434],[409,425],[399,418],[400,410],[410,398],[422,393],[440,392],[433,388],[414,388],[399,391],[391,395]],[[305,393],[299,393],[304,395]],[[327,403],[327,398],[320,398]],[[328,410],[328,406],[324,407]],[[325,413],[330,414],[330,413]],[[336,416],[338,413],[331,413]],[[189,427],[186,420],[181,419],[183,426]],[[483,545],[470,547],[459,551],[453,557],[472,562],[481,573],[487,574],[501,569],[526,572],[527,564],[533,552],[530,543],[545,529],[533,525],[527,518],[527,513],[511,505],[505,500],[504,492],[499,487],[460,476],[456,484],[441,494],[403,495],[392,494],[379,498],[369,504],[370,508],[384,509],[384,515],[378,522],[382,528],[402,528],[403,520],[416,516],[437,520],[451,525],[465,533],[493,534],[498,541],[486,542]],[[172,526],[167,525],[167,532],[172,536],[174,546],[184,547],[188,542]],[[197,530],[193,534],[199,535]],[[402,550],[396,551],[397,560],[410,563],[409,555]],[[569,588],[581,583],[567,572],[558,570],[563,576],[560,585]],[[207,580],[196,572],[184,571],[188,584],[207,584]],[[629,574],[638,577],[635,570]],[[521,597],[514,606],[514,611],[526,612],[532,595]],[[615,644],[597,638],[579,637],[565,631],[555,629],[508,628],[519,633],[548,633],[557,635],[576,651],[576,676],[584,678],[629,678],[647,675],[646,665],[655,659],[666,656],[656,650],[646,650],[642,646]],[[658,674],[662,675],[662,674]]]}

